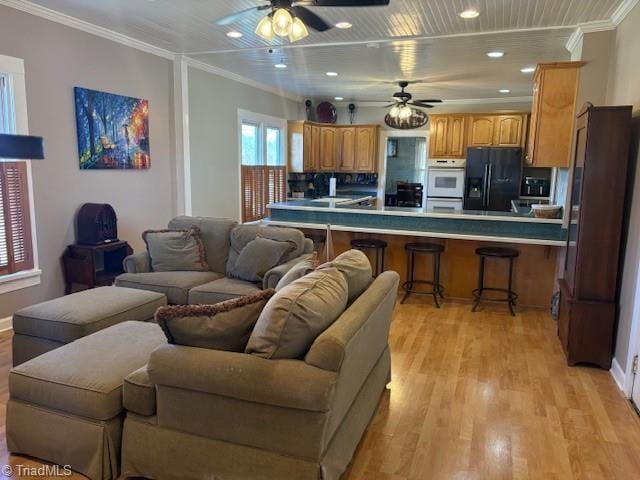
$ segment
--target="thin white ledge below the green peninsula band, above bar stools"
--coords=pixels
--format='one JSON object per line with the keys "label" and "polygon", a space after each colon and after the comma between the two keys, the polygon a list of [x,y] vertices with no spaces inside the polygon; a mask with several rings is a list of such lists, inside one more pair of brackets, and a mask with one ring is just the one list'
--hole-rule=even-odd
{"label": "thin white ledge below the green peninsula band, above bar stools", "polygon": [[[294,228],[310,228],[314,230],[325,230],[326,224],[320,223],[303,223],[303,222],[282,222],[279,220],[264,219],[263,223],[268,225],[279,225],[283,227]],[[480,242],[497,242],[497,243],[517,243],[522,245],[543,245],[548,247],[562,247],[566,242],[557,242],[555,240],[535,240],[530,238],[511,238],[511,237],[493,237],[490,235],[463,235],[458,233],[439,233],[424,232],[418,230],[389,230],[385,228],[368,228],[368,227],[349,227],[346,225],[331,225],[331,230],[338,232],[355,232],[355,233],[376,233],[380,235],[404,235],[409,237],[428,237],[428,238],[451,238],[454,240],[477,240]]]}

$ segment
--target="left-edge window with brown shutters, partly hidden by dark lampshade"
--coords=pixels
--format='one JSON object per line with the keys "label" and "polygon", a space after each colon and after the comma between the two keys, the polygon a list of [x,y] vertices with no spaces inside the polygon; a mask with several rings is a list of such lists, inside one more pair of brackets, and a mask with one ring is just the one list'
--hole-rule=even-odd
{"label": "left-edge window with brown shutters, partly hidden by dark lampshade", "polygon": [[[0,55],[0,133],[12,134],[26,130],[23,82],[22,62]],[[13,279],[15,277],[13,274],[34,271],[36,262],[29,185],[28,162],[0,160],[0,283],[2,284],[5,283],[3,282],[5,279]],[[30,286],[35,283],[22,283],[21,286]],[[21,286],[15,288],[21,288]],[[0,293],[12,289],[14,288],[5,285],[0,288]]]}

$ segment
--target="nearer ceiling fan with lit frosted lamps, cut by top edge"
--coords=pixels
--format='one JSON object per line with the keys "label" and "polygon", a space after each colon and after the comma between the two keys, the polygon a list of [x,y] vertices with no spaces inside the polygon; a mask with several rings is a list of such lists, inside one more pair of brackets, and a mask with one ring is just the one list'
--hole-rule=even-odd
{"label": "nearer ceiling fan with lit frosted lamps, cut by top edge", "polygon": [[269,3],[219,18],[216,24],[231,25],[245,15],[269,10],[269,13],[258,23],[256,34],[267,41],[273,40],[277,35],[289,37],[291,42],[296,42],[309,35],[307,27],[318,32],[325,32],[332,28],[332,25],[308,7],[376,7],[389,5],[389,2],[390,0],[269,0]]}

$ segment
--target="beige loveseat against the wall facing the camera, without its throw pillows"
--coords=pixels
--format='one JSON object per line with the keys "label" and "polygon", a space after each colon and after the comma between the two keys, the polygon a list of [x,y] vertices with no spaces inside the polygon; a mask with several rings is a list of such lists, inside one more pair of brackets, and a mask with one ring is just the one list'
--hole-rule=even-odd
{"label": "beige loveseat against the wall facing the camera, without its throw pillows", "polygon": [[[200,229],[209,271],[154,272],[149,254],[143,251],[125,258],[126,273],[116,278],[115,285],[163,293],[168,303],[174,305],[212,305],[263,288],[274,288],[289,269],[309,258],[313,252],[313,242],[292,228],[238,225],[233,220],[207,217],[177,217],[169,222],[168,228],[188,229],[192,225]],[[289,241],[295,245],[295,249],[285,255],[281,265],[265,274],[262,284],[229,278],[227,274],[242,248],[258,235]]]}

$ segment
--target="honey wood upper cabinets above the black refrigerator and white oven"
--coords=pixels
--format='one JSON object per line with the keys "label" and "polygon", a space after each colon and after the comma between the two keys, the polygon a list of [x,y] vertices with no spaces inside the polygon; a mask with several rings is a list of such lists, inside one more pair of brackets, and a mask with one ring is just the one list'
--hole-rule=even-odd
{"label": "honey wood upper cabinets above the black refrigerator and white oven", "polygon": [[431,115],[430,158],[464,158],[467,147],[524,147],[527,113]]}

